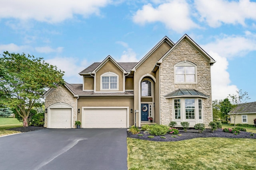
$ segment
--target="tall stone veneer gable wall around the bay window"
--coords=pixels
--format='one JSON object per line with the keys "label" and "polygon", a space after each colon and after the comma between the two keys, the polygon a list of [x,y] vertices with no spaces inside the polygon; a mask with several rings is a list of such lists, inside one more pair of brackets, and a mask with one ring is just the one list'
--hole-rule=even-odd
{"label": "tall stone veneer gable wall around the bay window", "polygon": [[[185,60],[196,64],[197,84],[174,84],[174,65]],[[209,61],[186,40],[182,40],[160,65],[161,124],[168,125],[170,121],[174,121],[172,120],[173,99],[165,98],[164,96],[178,89],[195,89],[209,96],[209,98],[202,98],[203,123],[207,127],[209,123],[212,122],[210,64]]]}

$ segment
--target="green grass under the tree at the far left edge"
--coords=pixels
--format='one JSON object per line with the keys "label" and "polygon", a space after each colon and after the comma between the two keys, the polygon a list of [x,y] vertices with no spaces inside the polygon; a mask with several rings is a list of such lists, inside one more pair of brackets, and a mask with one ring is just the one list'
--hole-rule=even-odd
{"label": "green grass under the tree at the far left edge", "polygon": [[21,127],[22,123],[19,122],[16,118],[0,118],[0,136],[20,133],[13,130],[6,130],[10,128]]}

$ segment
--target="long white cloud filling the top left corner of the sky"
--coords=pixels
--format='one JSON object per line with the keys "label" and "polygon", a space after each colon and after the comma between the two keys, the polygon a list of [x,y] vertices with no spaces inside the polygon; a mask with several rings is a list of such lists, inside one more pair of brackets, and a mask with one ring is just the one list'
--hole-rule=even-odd
{"label": "long white cloud filling the top left corner of the sky", "polygon": [[100,8],[110,2],[111,0],[8,0],[1,2],[0,18],[56,23],[73,18],[76,14],[84,17],[90,14],[100,15]]}

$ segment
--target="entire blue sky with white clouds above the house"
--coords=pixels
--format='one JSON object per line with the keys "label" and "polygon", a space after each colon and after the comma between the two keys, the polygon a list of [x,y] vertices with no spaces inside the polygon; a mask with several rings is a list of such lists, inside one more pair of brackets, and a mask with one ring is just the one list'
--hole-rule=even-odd
{"label": "entire blue sky with white clouds above the house", "polygon": [[80,71],[108,55],[136,62],[164,36],[188,34],[217,62],[212,98],[237,90],[256,101],[255,0],[0,0],[0,54],[43,57],[82,83]]}

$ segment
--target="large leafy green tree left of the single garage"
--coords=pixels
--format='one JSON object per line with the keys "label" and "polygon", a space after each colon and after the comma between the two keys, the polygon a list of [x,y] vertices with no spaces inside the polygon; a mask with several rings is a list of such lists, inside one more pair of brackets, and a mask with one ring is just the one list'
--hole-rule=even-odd
{"label": "large leafy green tree left of the single garage", "polygon": [[47,88],[64,84],[64,72],[46,63],[43,58],[4,52],[0,57],[0,104],[14,108],[28,126],[33,106],[42,104]]}

